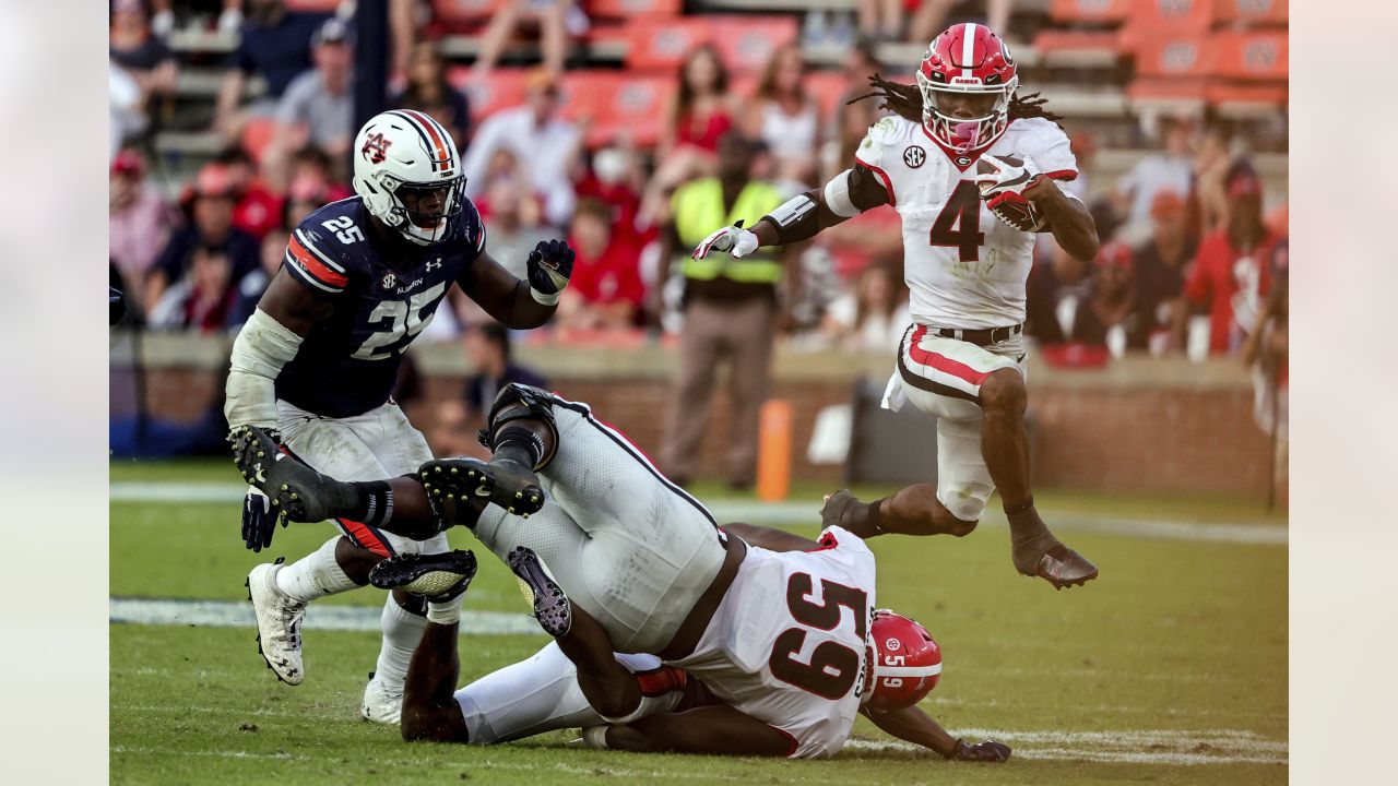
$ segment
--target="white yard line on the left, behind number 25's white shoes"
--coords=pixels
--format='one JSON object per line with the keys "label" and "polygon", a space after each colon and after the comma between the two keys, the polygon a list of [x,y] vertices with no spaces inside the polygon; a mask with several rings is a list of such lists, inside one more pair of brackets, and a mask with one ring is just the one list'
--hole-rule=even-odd
{"label": "white yard line on the left, behind number 25's white shoes", "polygon": [[[109,606],[112,622],[138,625],[193,625],[207,628],[253,628],[253,607],[226,600],[165,600],[145,597],[113,597]],[[383,608],[366,606],[312,604],[306,608],[305,627],[316,631],[379,631]],[[537,634],[538,622],[528,614],[503,611],[463,611],[464,634]]]}

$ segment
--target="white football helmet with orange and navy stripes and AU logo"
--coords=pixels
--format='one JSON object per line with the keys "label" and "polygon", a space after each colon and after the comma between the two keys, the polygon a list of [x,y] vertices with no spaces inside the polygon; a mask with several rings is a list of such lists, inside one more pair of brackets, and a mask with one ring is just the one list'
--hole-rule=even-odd
{"label": "white football helmet with orange and navy stripes and AU logo", "polygon": [[370,215],[419,246],[449,238],[466,208],[456,141],[411,109],[380,112],[359,129],[354,190]]}

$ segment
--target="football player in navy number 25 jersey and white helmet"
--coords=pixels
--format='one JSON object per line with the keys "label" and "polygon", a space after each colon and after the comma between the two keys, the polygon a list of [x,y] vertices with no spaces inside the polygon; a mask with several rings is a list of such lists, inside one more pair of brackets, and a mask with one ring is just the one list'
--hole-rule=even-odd
{"label": "football player in navy number 25 jersey and white helmet", "polygon": [[[456,143],[421,112],[389,110],[354,143],[355,196],[312,213],[292,231],[282,269],[233,343],[224,414],[238,431],[275,431],[285,450],[316,470],[383,481],[366,492],[340,533],[289,565],[247,575],[259,648],[282,681],[305,678],[301,621],[306,603],[368,585],[369,569],[398,552],[447,550],[445,536],[415,541],[380,530],[391,513],[387,480],[432,459],[426,439],[390,397],[408,344],[432,322],[452,284],[512,329],[554,315],[573,269],[562,241],[538,243],[527,280],[487,252],[485,227],[466,199]],[[271,544],[275,512],[256,488],[243,501],[249,548]],[[383,648],[361,713],[398,723],[403,680],[426,625],[421,597],[390,596]]]}

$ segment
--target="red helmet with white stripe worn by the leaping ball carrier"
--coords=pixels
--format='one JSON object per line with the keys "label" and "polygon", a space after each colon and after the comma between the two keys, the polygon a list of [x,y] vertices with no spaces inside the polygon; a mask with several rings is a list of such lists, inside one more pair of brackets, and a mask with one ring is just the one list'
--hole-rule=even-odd
{"label": "red helmet with white stripe worn by the leaping ball carrier", "polygon": [[[1009,98],[1019,74],[1009,48],[986,25],[952,25],[932,39],[917,70],[927,133],[955,152],[990,147],[1009,126]],[[969,95],[967,95],[969,94]],[[951,102],[974,115],[952,115]]]}

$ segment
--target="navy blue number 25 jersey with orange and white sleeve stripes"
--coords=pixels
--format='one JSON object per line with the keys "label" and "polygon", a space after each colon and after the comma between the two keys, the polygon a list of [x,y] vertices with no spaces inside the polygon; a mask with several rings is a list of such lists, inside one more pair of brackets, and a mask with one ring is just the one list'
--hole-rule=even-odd
{"label": "navy blue number 25 jersey with orange and white sleeve stripes", "polygon": [[452,283],[485,249],[475,206],[447,239],[414,248],[390,264],[369,242],[359,197],[330,203],[291,234],[282,267],[334,301],[277,378],[277,397],[317,415],[344,418],[389,400],[408,344],[436,316]]}

